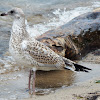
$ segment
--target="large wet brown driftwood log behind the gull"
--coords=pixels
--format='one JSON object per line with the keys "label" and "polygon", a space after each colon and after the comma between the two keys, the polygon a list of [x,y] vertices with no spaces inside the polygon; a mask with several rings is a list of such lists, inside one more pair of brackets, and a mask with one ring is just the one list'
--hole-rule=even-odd
{"label": "large wet brown driftwood log behind the gull", "polygon": [[100,11],[82,14],[65,25],[50,30],[37,40],[59,55],[69,59],[81,59],[100,48]]}

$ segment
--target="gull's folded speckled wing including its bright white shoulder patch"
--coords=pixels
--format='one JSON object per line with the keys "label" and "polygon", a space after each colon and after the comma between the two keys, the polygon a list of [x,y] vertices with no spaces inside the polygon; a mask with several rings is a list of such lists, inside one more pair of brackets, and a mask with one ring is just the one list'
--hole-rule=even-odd
{"label": "gull's folded speckled wing including its bright white shoulder patch", "polygon": [[22,42],[22,49],[25,52],[28,52],[30,57],[35,59],[37,63],[42,63],[44,65],[45,64],[53,65],[55,67],[61,66],[60,63],[64,64],[64,61],[59,55],[57,55],[54,51],[52,51],[46,45],[44,45],[43,43],[37,40],[34,40],[34,41],[24,40]]}

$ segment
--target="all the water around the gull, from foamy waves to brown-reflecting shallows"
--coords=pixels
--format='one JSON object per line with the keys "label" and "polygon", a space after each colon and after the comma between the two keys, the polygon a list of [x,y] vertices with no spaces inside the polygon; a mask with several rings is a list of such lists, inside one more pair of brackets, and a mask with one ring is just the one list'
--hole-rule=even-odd
{"label": "all the water around the gull, from foamy waves to brown-reflecting shallows", "polygon": [[[86,1],[86,2],[85,2]],[[16,5],[15,5],[16,4]],[[76,16],[90,12],[100,7],[100,1],[95,0],[2,0],[0,13],[12,7],[24,10],[28,24],[27,31],[33,37],[61,26]],[[17,66],[9,55],[8,44],[12,19],[0,17],[0,100],[29,98],[29,69]],[[90,73],[76,73],[69,70],[37,72],[36,93],[46,95],[63,87],[71,86],[100,75],[100,64],[80,62],[92,68]]]}

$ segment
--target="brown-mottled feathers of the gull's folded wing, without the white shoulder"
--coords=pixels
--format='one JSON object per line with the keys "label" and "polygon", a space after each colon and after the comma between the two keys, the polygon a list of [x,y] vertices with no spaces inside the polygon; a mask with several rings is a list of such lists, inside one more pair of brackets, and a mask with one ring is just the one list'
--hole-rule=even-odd
{"label": "brown-mottled feathers of the gull's folded wing, without the white shoulder", "polygon": [[59,61],[59,56],[54,51],[36,40],[35,42],[28,41],[27,48],[25,50],[28,51],[30,56],[38,63],[56,64]]}

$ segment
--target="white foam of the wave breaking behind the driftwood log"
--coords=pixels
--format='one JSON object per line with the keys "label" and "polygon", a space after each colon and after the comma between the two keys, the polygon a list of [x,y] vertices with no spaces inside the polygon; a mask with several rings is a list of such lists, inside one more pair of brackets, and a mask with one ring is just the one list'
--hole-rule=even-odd
{"label": "white foam of the wave breaking behind the driftwood log", "polygon": [[70,11],[67,11],[66,9],[63,11],[61,9],[57,9],[53,12],[56,17],[50,19],[47,23],[44,22],[42,24],[33,25],[34,28],[31,27],[32,30],[30,29],[30,32],[34,33],[32,31],[35,29],[37,32],[35,32],[36,34],[33,34],[33,36],[39,36],[48,30],[64,25],[73,18],[92,10],[93,8],[91,7],[78,7]]}

